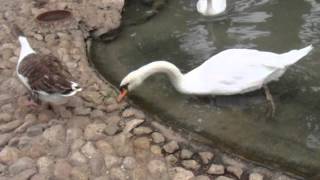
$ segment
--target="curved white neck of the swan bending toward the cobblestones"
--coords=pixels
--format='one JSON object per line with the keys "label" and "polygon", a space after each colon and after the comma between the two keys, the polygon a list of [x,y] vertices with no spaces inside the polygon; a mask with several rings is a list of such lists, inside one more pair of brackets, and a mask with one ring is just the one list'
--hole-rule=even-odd
{"label": "curved white neck of the swan bending toward the cobblestones", "polygon": [[178,91],[182,91],[181,84],[183,80],[183,74],[172,63],[169,63],[167,61],[156,61],[139,68],[137,71],[141,73],[142,80],[145,80],[153,74],[164,73],[169,77],[174,87]]}

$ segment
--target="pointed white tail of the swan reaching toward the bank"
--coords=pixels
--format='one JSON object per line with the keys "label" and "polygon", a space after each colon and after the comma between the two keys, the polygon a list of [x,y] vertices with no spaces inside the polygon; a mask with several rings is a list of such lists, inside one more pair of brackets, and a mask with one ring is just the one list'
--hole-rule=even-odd
{"label": "pointed white tail of the swan reaching toward the bank", "polygon": [[285,66],[290,66],[296,62],[298,62],[300,59],[302,59],[304,56],[306,56],[307,54],[309,54],[309,52],[313,49],[312,45],[309,45],[305,48],[299,49],[299,50],[291,50],[287,53],[283,53],[281,54],[281,56],[284,57],[285,61],[286,61],[286,65]]}

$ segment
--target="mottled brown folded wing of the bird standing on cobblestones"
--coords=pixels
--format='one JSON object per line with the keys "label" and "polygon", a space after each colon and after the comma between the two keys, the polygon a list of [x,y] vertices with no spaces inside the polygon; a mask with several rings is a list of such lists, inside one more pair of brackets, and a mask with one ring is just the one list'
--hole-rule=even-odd
{"label": "mottled brown folded wing of the bird standing on cobblestones", "polygon": [[28,80],[32,91],[47,94],[68,94],[72,76],[53,55],[30,54],[19,64],[18,73]]}

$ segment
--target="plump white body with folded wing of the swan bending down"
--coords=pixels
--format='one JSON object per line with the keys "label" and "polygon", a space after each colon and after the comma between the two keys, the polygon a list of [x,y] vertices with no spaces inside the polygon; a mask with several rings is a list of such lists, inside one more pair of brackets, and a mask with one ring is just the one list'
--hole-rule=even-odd
{"label": "plump white body with folded wing of the swan bending down", "polygon": [[230,95],[256,90],[284,73],[292,64],[289,60],[293,52],[296,51],[276,54],[251,49],[226,50],[187,73],[183,86],[193,94]]}

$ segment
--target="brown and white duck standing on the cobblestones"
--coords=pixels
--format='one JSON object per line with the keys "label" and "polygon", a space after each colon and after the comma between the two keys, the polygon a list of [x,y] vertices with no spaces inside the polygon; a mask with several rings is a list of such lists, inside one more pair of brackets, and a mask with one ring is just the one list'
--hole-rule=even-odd
{"label": "brown and white duck standing on the cobblestones", "polygon": [[82,90],[57,57],[37,53],[19,27],[15,25],[13,30],[21,45],[16,71],[31,94],[31,104],[41,101],[63,104],[68,97]]}

